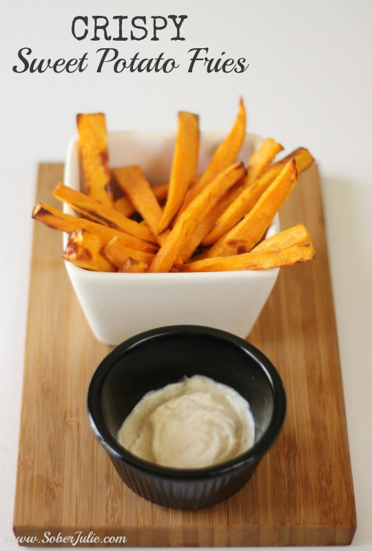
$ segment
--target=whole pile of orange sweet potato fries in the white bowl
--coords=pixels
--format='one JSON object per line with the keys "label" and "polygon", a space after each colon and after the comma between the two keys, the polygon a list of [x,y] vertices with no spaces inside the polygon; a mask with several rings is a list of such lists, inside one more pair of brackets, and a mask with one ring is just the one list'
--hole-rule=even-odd
{"label": "whole pile of orange sweet potato fries in the white bowl", "polygon": [[195,272],[269,269],[315,256],[302,224],[265,239],[313,157],[300,147],[274,162],[283,148],[267,138],[246,165],[236,162],[246,133],[241,100],[231,131],[200,177],[198,116],[178,113],[169,182],[157,185],[139,166],[110,169],[104,114],[79,114],[77,127],[87,193],[60,183],[54,196],[79,216],[41,203],[32,212],[69,233],[65,260],[95,271]]}

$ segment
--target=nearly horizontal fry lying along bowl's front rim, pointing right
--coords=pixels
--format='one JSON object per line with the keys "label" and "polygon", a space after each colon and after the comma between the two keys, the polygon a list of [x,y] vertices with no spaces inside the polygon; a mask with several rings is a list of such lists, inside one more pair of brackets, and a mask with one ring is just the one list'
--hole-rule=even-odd
{"label": "nearly horizontal fry lying along bowl's front rim, pointing right", "polygon": [[176,264],[179,271],[234,271],[262,270],[291,266],[296,262],[305,262],[315,257],[311,243],[306,245],[291,245],[278,251],[243,253],[233,256],[204,258],[189,264]]}

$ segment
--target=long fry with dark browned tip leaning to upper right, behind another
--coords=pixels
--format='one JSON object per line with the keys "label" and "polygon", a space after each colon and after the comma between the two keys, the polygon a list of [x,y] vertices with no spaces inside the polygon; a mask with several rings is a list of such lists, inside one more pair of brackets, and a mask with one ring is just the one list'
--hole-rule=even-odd
{"label": "long fry with dark browned tip leaning to upper right, behind another", "polygon": [[307,149],[300,147],[291,155],[286,156],[274,165],[271,165],[261,176],[256,178],[254,182],[245,186],[240,195],[225,209],[216,224],[211,229],[205,238],[202,240],[202,245],[213,245],[222,238],[227,231],[233,228],[238,222],[254,207],[263,192],[269,187],[273,180],[277,178],[280,171],[288,163],[291,158],[296,160],[296,168],[298,174],[304,171],[313,163],[313,157]]}

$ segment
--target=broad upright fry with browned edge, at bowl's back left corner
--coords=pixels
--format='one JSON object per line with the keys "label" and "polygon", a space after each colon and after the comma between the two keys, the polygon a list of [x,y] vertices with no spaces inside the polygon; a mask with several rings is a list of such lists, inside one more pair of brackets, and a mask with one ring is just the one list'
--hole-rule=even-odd
{"label": "broad upright fry with browned edge, at bowl's back left corner", "polygon": [[112,206],[105,115],[79,114],[76,116],[76,123],[87,194],[103,205]]}

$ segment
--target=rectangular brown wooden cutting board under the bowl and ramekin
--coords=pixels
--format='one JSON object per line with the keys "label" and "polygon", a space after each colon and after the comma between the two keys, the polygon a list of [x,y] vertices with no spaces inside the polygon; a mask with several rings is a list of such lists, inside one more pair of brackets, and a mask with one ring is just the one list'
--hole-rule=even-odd
{"label": "rectangular brown wooden cutting board under the bowl and ramekin", "polygon": [[[63,165],[40,165],[38,201],[54,204],[52,189],[62,174]],[[85,322],[61,260],[61,234],[35,222],[17,537],[43,545],[59,533],[60,539],[75,532],[89,539],[92,530],[102,539],[125,536],[129,547],[351,543],[355,501],[316,166],[301,175],[280,211],[283,229],[298,222],[311,230],[316,260],[281,269],[249,335],[284,380],[285,426],[245,488],[214,507],[187,512],[134,494],[94,438],[87,386],[110,346],[97,342]]]}

